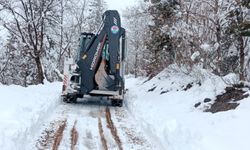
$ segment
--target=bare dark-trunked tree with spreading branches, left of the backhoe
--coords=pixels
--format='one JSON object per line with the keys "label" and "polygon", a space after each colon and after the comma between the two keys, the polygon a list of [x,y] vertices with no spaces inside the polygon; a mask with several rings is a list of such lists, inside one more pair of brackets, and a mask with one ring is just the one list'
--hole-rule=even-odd
{"label": "bare dark-trunked tree with spreading branches, left of the backhoe", "polygon": [[[44,36],[47,21],[55,0],[14,0],[4,1],[0,5],[11,14],[9,21],[2,20],[4,27],[16,38],[20,39],[23,51],[36,64],[37,83],[43,83],[44,70],[41,57],[45,52]],[[20,49],[17,49],[20,50]]]}

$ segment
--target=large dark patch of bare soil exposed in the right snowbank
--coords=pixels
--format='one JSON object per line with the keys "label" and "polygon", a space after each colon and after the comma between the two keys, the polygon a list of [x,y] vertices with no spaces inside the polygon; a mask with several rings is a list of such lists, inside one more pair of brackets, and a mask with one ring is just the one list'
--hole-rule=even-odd
{"label": "large dark patch of bare soil exposed in the right snowbank", "polygon": [[217,113],[235,109],[240,105],[237,101],[249,96],[249,94],[245,94],[246,92],[241,88],[237,88],[237,86],[226,87],[225,90],[225,93],[216,96],[214,103],[205,112]]}

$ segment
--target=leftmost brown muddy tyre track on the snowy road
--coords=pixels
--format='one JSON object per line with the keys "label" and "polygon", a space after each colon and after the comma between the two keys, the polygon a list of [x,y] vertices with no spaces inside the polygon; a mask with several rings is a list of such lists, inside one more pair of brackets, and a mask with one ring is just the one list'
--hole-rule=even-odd
{"label": "leftmost brown muddy tyre track on the snowy road", "polygon": [[58,150],[58,147],[59,147],[61,140],[62,140],[62,137],[63,137],[63,131],[66,127],[66,122],[67,122],[67,120],[63,121],[62,124],[57,129],[52,150]]}

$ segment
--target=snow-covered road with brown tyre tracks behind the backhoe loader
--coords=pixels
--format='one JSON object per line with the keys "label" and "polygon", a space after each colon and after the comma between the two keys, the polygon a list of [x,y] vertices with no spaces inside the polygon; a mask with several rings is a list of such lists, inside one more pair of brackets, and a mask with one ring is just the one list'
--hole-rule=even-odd
{"label": "snow-covered road with brown tyre tracks behind the backhoe loader", "polygon": [[102,101],[60,103],[38,130],[31,149],[158,149],[126,107]]}

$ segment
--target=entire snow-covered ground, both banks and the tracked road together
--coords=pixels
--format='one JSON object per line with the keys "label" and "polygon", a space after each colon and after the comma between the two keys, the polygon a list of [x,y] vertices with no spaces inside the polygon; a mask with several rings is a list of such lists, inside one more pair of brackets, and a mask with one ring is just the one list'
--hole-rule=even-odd
{"label": "entire snow-covered ground, both banks and the tracked road together", "polygon": [[[203,112],[226,83],[236,81],[233,74],[220,78],[200,69],[166,69],[149,81],[130,76],[122,108],[64,104],[61,83],[0,85],[0,147],[51,149],[62,134],[59,149],[72,148],[73,136],[75,149],[103,149],[106,141],[108,149],[248,150],[250,98],[235,110]],[[197,102],[202,103],[195,108]]]}

